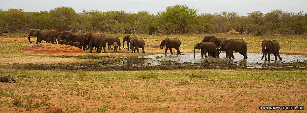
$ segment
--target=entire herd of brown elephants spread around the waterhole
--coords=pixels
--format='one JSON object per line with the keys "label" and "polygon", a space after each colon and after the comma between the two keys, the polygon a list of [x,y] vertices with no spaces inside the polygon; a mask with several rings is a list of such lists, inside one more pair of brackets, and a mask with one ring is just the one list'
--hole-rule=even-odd
{"label": "entire herd of brown elephants spread around the waterhole", "polygon": [[[83,50],[90,49],[90,53],[92,53],[92,49],[95,47],[97,48],[97,52],[101,53],[103,48],[103,53],[106,53],[106,45],[108,49],[113,49],[114,52],[117,48],[120,50],[120,39],[118,37],[106,37],[103,34],[92,34],[87,33],[83,34],[81,32],[60,32],[59,30],[54,29],[47,29],[47,30],[40,30],[40,29],[32,29],[29,32],[28,39],[30,41],[30,36],[37,37],[36,44],[41,43],[42,40],[48,43],[57,43],[57,44],[65,44],[78,47]],[[131,53],[135,53],[135,50],[139,53],[139,48],[142,48],[142,53],[145,53],[144,46],[145,41],[143,39],[138,39],[135,35],[126,35],[122,40],[122,46],[125,49],[124,42],[127,41],[127,48],[128,50],[131,49]],[[88,45],[88,47],[86,46]],[[113,45],[113,48],[112,48]],[[169,49],[170,53],[173,54],[172,48],[177,50],[177,55],[180,54],[180,46],[181,42],[177,38],[169,39],[166,38],[161,41],[160,49],[163,49],[165,46],[165,53]],[[270,53],[275,55],[275,60],[277,60],[277,56],[279,60],[282,58],[279,56],[279,44],[276,40],[263,40],[262,41],[262,58],[266,58],[266,54],[268,54],[268,60],[270,60]],[[194,57],[195,57],[195,49],[201,49],[201,57],[219,57],[221,51],[226,52],[226,57],[235,58],[233,56],[233,51],[239,52],[244,59],[247,59],[247,43],[243,39],[227,39],[227,38],[216,38],[215,36],[205,36],[200,43],[197,43],[194,46]],[[220,51],[220,53],[219,53]],[[206,53],[208,52],[208,56]]]}

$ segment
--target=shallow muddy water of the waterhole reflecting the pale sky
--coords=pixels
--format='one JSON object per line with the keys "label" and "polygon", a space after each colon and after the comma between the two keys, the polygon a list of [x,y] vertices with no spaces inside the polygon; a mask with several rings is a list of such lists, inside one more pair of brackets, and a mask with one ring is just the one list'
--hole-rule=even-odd
{"label": "shallow muddy water of the waterhole reflecting the pale sky", "polygon": [[[161,58],[157,58],[157,56]],[[302,55],[284,55],[281,54],[282,60],[274,60],[274,54],[271,54],[271,61],[265,61],[262,58],[262,54],[258,53],[248,53],[248,59],[243,59],[243,56],[239,53],[234,53],[235,59],[229,59],[229,57],[225,57],[226,53],[221,53],[219,58],[215,57],[204,57],[201,58],[200,53],[195,53],[195,58],[193,58],[193,53],[183,53],[180,55],[176,54],[156,54],[156,55],[148,55],[148,56],[140,56],[139,58],[149,58],[152,60],[145,61],[145,66],[147,65],[173,65],[173,64],[196,64],[196,63],[204,63],[204,62],[214,62],[218,64],[223,63],[233,63],[236,65],[246,64],[246,67],[251,68],[271,68],[269,64],[283,64],[283,63],[296,63],[296,62],[307,62],[307,56]],[[173,61],[173,62],[172,62]],[[175,63],[176,62],[176,63]],[[147,64],[146,64],[147,63]],[[149,64],[148,64],[149,63]],[[273,66],[274,67],[274,66]]]}

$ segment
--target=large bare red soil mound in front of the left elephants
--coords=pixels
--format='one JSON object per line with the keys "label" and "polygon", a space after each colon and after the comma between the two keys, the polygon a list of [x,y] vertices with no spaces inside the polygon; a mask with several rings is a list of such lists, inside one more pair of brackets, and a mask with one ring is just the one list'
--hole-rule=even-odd
{"label": "large bare red soil mound in front of the left elephants", "polygon": [[29,51],[32,53],[52,53],[52,54],[64,54],[64,55],[87,55],[87,53],[74,46],[60,45],[60,44],[35,44],[33,46],[19,49],[19,51]]}

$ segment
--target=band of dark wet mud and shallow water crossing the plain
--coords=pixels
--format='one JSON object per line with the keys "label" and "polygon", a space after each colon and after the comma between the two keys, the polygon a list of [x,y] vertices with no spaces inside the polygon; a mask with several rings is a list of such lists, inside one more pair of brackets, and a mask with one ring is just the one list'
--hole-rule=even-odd
{"label": "band of dark wet mud and shallow water crossing the plain", "polygon": [[260,60],[262,54],[249,53],[248,59],[243,59],[239,53],[234,53],[235,59],[225,57],[221,53],[219,58],[201,58],[200,53],[156,54],[139,57],[97,57],[91,63],[83,64],[13,64],[0,66],[2,68],[33,69],[33,70],[101,70],[101,71],[125,71],[125,70],[175,70],[175,69],[259,69],[259,70],[307,70],[307,56],[280,55],[282,61]]}

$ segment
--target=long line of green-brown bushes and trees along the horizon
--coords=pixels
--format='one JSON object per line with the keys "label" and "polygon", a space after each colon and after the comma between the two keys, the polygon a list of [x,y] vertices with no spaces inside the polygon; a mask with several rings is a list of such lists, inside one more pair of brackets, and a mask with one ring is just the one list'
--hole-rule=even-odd
{"label": "long line of green-brown bushes and trees along the horizon", "polygon": [[148,33],[223,33],[235,29],[246,34],[304,34],[307,13],[285,12],[280,9],[266,14],[255,11],[247,16],[238,12],[199,13],[187,5],[173,5],[157,14],[115,10],[101,12],[71,7],[57,7],[49,11],[25,12],[23,9],[0,9],[0,31],[29,31],[30,29],[58,29],[71,32]]}

